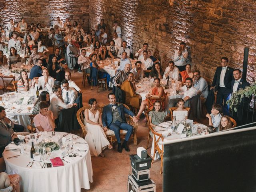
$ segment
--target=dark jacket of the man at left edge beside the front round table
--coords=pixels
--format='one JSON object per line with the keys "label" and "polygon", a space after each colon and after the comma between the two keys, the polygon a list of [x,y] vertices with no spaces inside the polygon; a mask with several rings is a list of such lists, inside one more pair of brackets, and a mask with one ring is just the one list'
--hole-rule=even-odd
{"label": "dark jacket of the man at left edge beside the front round table", "polygon": [[7,146],[10,142],[12,142],[12,134],[13,134],[13,128],[14,124],[11,121],[11,126],[8,124],[5,124],[2,121],[0,121],[0,146]]}

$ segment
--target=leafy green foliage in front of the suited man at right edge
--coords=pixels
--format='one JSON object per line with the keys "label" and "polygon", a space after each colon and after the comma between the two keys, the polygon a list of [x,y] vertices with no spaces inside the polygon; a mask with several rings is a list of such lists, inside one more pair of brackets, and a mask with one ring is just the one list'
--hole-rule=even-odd
{"label": "leafy green foliage in front of the suited man at right edge", "polygon": [[253,94],[256,95],[256,82],[254,82],[251,86],[247,86],[244,89],[234,92],[226,103],[229,104],[230,109],[234,109],[236,112],[236,107],[240,102],[242,102],[242,99],[250,98]]}

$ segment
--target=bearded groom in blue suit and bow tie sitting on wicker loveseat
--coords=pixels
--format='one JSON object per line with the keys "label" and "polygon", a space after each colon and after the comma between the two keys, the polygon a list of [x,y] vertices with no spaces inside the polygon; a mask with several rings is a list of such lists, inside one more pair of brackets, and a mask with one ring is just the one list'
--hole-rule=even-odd
{"label": "bearded groom in blue suit and bow tie sitting on wicker loveseat", "polygon": [[[110,130],[113,130],[115,132],[115,136],[118,142],[118,152],[122,152],[122,148],[124,148],[126,151],[130,151],[130,149],[127,146],[127,141],[130,138],[133,127],[126,123],[126,119],[124,114],[129,114],[133,117],[134,122],[138,123],[138,120],[134,113],[128,109],[126,109],[122,104],[116,104],[116,96],[114,93],[108,94],[108,100],[110,101],[109,105],[106,105],[103,108],[102,113],[102,123],[104,128],[109,128]],[[120,129],[127,130],[125,139],[123,144],[121,145],[121,139],[120,139]]]}

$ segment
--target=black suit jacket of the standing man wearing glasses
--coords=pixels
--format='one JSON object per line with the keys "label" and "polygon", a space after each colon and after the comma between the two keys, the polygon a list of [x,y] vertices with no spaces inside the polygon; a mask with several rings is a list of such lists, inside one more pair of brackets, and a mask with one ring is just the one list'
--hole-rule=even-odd
{"label": "black suit jacket of the standing man wearing glasses", "polygon": [[[220,85],[220,73],[222,71],[222,67],[217,67],[216,72],[214,74],[214,78],[212,80],[212,86],[215,87],[214,91],[217,91]],[[226,88],[231,89],[231,81],[234,80],[233,76],[234,69],[228,67],[224,76],[224,85]]]}

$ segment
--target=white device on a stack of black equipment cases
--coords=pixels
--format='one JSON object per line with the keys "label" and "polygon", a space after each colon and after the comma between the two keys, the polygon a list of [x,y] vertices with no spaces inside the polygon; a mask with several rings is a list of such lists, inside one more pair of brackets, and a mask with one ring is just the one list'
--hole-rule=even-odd
{"label": "white device on a stack of black equipment cases", "polygon": [[156,192],[156,184],[150,179],[152,158],[143,147],[136,155],[130,155],[132,174],[128,176],[128,192]]}

